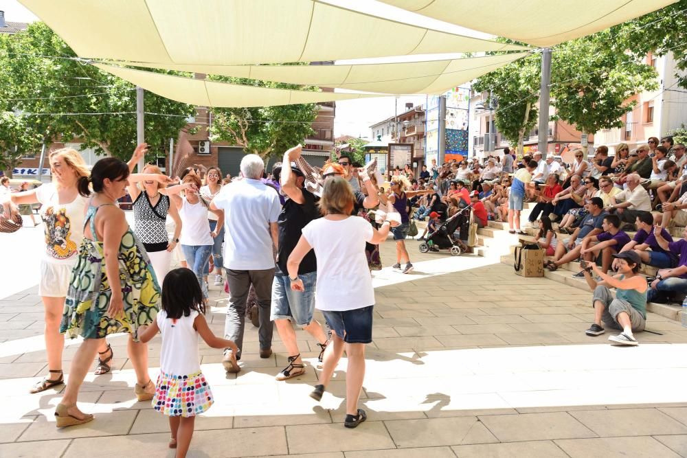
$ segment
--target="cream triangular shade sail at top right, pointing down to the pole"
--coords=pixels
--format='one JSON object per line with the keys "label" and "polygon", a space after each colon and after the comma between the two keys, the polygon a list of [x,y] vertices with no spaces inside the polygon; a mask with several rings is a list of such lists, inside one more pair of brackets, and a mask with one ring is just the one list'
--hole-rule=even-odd
{"label": "cream triangular shade sail at top right, pointing down to the pole", "polygon": [[379,1],[480,32],[548,47],[629,21],[677,0]]}

